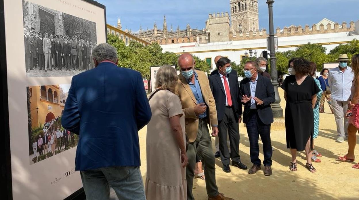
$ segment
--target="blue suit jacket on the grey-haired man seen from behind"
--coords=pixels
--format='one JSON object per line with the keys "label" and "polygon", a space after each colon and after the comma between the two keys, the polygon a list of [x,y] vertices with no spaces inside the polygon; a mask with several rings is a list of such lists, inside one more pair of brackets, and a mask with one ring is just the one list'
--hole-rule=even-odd
{"label": "blue suit jacket on the grey-haired man seen from behind", "polygon": [[61,120],[80,138],[75,170],[140,166],[138,131],[150,119],[139,72],[102,62],[74,76]]}

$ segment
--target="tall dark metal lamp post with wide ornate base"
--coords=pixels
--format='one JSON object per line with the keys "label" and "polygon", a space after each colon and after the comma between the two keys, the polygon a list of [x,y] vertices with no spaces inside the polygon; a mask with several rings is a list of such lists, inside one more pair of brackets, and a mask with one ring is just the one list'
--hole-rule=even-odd
{"label": "tall dark metal lamp post with wide ornate base", "polygon": [[283,109],[280,107],[280,97],[278,92],[278,72],[275,58],[274,48],[274,25],[273,25],[273,3],[274,0],[267,0],[269,10],[269,50],[270,50],[270,71],[272,84],[275,91],[275,102],[272,103],[272,111],[274,118],[283,118]]}

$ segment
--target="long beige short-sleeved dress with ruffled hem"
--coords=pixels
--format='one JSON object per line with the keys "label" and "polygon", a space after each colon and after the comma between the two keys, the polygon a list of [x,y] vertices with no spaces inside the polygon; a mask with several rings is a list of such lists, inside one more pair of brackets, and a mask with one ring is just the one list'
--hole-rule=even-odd
{"label": "long beige short-sleeved dress with ruffled hem", "polygon": [[186,200],[186,168],[181,166],[180,148],[174,139],[169,118],[181,115],[185,142],[185,116],[178,96],[168,90],[154,94],[147,125],[147,174],[145,194],[148,200]]}

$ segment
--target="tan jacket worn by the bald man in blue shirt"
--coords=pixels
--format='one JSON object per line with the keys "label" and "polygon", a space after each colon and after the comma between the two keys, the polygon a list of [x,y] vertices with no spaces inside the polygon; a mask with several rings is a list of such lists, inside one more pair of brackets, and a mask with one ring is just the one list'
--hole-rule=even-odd
{"label": "tan jacket worn by the bald man in blue shirt", "polygon": [[[198,75],[198,82],[201,87],[203,100],[207,106],[207,123],[210,126],[218,126],[216,104],[209,87],[208,77],[202,71],[195,70],[195,72]],[[185,128],[187,137],[190,142],[194,142],[197,137],[199,123],[198,116],[194,111],[194,107],[197,105],[197,102],[185,77],[180,74],[178,75],[178,78],[174,93],[181,99],[182,110],[185,113]]]}

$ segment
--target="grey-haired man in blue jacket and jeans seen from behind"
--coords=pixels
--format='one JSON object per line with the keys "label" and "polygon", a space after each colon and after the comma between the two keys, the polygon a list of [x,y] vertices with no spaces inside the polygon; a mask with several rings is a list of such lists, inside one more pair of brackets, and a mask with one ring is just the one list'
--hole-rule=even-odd
{"label": "grey-haired man in blue jacket and jeans seen from behind", "polygon": [[107,43],[93,49],[95,68],[72,78],[62,126],[79,135],[75,170],[88,200],[145,199],[138,131],[151,119],[139,72],[117,66]]}

